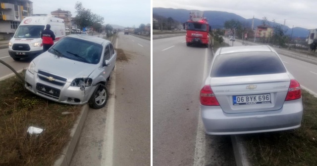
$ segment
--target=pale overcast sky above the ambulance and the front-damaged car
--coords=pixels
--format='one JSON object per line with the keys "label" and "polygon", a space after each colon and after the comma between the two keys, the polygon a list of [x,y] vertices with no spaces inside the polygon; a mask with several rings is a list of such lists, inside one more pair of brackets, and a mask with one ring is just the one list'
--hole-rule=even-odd
{"label": "pale overcast sky above the ambulance and the front-damaged car", "polygon": [[[82,2],[83,7],[94,14],[104,17],[104,24],[123,27],[139,27],[151,23],[151,0],[31,0],[33,14],[51,14],[58,8],[68,10],[76,16],[75,4]],[[44,2],[45,1],[45,2]]]}

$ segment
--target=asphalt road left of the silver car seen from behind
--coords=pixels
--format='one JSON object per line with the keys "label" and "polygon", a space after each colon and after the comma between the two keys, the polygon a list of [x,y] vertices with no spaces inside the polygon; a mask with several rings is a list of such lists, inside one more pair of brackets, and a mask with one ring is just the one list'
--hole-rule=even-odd
{"label": "asphalt road left of the silver car seen from behind", "polygon": [[185,37],[153,41],[153,166],[233,166],[230,138],[205,134],[199,92],[211,49]]}

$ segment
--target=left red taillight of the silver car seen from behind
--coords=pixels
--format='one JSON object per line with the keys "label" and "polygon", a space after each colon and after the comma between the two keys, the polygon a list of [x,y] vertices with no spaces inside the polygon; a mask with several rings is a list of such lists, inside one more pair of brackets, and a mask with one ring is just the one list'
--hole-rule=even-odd
{"label": "left red taillight of the silver car seen from behind", "polygon": [[200,103],[207,106],[219,106],[210,85],[205,85],[202,90],[200,90]]}

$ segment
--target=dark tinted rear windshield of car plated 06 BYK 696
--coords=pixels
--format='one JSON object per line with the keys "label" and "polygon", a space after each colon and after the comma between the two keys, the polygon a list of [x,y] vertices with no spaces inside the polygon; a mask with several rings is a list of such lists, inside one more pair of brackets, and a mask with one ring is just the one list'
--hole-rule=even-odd
{"label": "dark tinted rear windshield of car plated 06 BYK 696", "polygon": [[286,69],[274,52],[239,52],[218,55],[211,77],[233,77],[285,73]]}

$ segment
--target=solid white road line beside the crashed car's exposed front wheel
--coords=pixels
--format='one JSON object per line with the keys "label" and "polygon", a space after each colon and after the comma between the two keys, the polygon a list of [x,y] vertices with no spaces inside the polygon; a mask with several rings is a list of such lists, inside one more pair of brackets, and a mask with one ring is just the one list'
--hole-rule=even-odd
{"label": "solid white road line beside the crashed car's exposed front wheel", "polygon": [[115,69],[112,71],[111,75],[111,85],[109,94],[111,97],[108,99],[107,103],[107,115],[106,115],[106,129],[104,134],[105,144],[103,145],[101,166],[112,166],[113,158],[113,128],[114,128],[114,96],[115,96]]}

